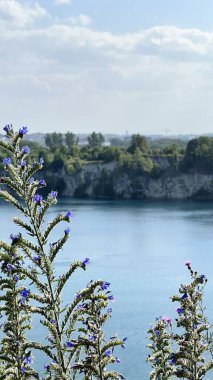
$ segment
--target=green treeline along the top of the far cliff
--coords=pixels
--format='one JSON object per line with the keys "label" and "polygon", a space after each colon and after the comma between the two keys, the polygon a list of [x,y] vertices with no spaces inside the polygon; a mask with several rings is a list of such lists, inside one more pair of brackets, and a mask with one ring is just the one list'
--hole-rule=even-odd
{"label": "green treeline along the top of the far cliff", "polygon": [[[213,138],[201,136],[190,140],[162,138],[148,140],[140,134],[133,134],[129,139],[112,138],[106,143],[101,133],[93,132],[84,145],[79,144],[78,137],[72,133],[49,133],[45,136],[45,146],[25,141],[31,150],[32,160],[43,158],[44,176],[50,188],[63,192],[65,182],[52,175],[56,173],[79,173],[89,164],[113,164],[113,170],[101,172],[98,192],[110,193],[112,176],[126,173],[131,180],[138,176],[158,178],[171,173],[213,173]],[[0,150],[0,161],[5,158],[4,149]],[[1,164],[1,168],[3,168]],[[89,179],[88,179],[89,181]],[[85,183],[83,184],[85,186]],[[49,190],[49,189],[48,189]]]}

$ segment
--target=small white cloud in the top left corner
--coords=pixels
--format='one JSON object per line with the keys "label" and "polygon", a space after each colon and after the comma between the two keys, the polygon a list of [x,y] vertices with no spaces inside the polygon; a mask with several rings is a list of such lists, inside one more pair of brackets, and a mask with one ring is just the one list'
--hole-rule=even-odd
{"label": "small white cloud in the top left corner", "polygon": [[47,11],[37,2],[30,6],[17,0],[0,0],[0,26],[26,28],[44,16]]}

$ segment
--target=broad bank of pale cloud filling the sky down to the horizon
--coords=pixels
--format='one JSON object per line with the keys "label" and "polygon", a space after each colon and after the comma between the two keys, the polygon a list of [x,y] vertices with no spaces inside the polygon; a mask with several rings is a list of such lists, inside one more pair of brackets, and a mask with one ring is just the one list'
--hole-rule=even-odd
{"label": "broad bank of pale cloud filling the sky down to the horizon", "polygon": [[3,124],[28,119],[35,129],[63,124],[76,132],[144,133],[159,124],[204,131],[205,122],[208,130],[212,32],[156,26],[114,35],[91,28],[88,15],[36,24],[46,14],[39,4],[0,0],[0,15],[10,25],[0,29]]}

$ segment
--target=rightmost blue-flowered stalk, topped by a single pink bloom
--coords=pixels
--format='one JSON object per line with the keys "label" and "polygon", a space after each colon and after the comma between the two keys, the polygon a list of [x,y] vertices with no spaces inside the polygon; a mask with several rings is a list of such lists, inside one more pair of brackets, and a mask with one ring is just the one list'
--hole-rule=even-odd
{"label": "rightmost blue-flowered stalk, topped by a single pink bloom", "polygon": [[193,271],[190,262],[187,261],[186,266],[190,272],[191,283],[181,285],[179,294],[172,297],[173,302],[179,302],[176,322],[177,327],[183,330],[182,334],[175,334],[173,337],[178,345],[175,354],[176,376],[201,380],[213,368],[213,360],[206,359],[210,349],[208,333],[211,327],[203,307],[203,289],[207,278]]}

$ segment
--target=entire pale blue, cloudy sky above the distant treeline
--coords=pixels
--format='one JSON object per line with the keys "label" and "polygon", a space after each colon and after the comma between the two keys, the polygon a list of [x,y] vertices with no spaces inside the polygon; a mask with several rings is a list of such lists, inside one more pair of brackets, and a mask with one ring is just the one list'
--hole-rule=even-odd
{"label": "entire pale blue, cloudy sky above the distant treeline", "polygon": [[213,133],[213,1],[0,0],[0,123]]}

